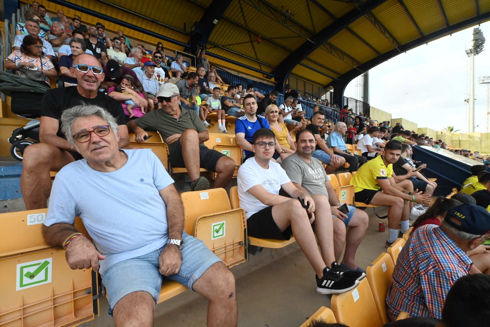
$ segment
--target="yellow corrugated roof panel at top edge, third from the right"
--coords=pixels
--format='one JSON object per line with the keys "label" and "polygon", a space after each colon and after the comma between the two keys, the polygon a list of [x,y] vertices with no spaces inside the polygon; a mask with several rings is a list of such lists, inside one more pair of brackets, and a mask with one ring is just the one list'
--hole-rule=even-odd
{"label": "yellow corrugated roof panel at top edge, third from the right", "polygon": [[403,0],[424,35],[446,26],[439,4],[435,0]]}

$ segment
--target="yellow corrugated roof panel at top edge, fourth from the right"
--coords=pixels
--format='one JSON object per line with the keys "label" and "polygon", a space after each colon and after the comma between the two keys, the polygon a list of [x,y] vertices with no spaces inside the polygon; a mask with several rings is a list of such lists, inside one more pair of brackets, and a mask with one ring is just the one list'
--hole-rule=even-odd
{"label": "yellow corrugated roof panel at top edge, fourth from the right", "polygon": [[373,9],[372,14],[400,44],[405,44],[420,37],[417,28],[397,0],[384,2]]}

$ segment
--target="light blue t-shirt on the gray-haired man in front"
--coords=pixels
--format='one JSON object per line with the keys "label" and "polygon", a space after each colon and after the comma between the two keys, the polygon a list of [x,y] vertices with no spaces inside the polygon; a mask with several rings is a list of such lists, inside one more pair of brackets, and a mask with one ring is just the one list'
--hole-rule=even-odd
{"label": "light blue t-shirt on the gray-haired man in front", "polygon": [[54,179],[44,225],[73,224],[80,217],[97,250],[102,274],[111,265],[161,248],[168,238],[167,206],[159,194],[173,183],[150,149],[122,150],[115,172],[98,172],[85,159],[63,167]]}

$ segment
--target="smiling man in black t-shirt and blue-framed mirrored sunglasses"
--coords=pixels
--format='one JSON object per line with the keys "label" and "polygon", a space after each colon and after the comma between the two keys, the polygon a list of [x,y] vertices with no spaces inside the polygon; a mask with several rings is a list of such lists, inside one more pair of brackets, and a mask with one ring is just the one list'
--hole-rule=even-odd
{"label": "smiling man in black t-shirt and blue-framed mirrored sunglasses", "polygon": [[51,191],[50,171],[59,171],[70,162],[82,159],[61,131],[60,118],[63,110],[82,102],[101,106],[117,120],[119,148],[129,145],[121,103],[98,92],[104,73],[97,58],[86,53],[76,56],[70,72],[76,77],[78,85],[52,89],[45,93],[41,102],[41,142],[30,145],[24,151],[21,190],[27,210],[46,208]]}

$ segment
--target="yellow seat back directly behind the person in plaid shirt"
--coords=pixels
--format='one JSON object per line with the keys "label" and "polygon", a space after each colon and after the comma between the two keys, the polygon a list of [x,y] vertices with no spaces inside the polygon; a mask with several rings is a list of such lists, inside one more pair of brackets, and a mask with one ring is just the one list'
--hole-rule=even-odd
{"label": "yellow seat back directly behind the person in plaid shirt", "polygon": [[366,269],[366,277],[383,324],[390,322],[386,307],[386,294],[392,283],[393,268],[392,258],[388,253],[383,252]]}

